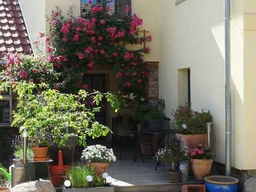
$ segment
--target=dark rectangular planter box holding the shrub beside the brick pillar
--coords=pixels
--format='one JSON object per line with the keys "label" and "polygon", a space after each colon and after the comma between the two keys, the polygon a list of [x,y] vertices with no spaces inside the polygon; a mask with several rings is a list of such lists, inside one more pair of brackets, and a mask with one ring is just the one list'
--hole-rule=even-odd
{"label": "dark rectangular planter box holding the shrub beside the brick pillar", "polygon": [[168,131],[170,130],[170,119],[144,121],[143,127],[147,131]]}

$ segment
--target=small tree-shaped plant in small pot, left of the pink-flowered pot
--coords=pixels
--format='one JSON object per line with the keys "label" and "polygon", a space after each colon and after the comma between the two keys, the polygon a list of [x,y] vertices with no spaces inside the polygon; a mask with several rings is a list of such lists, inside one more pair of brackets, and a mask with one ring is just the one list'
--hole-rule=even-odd
{"label": "small tree-shaped plant in small pot, left of the pink-flowered pot", "polygon": [[165,148],[158,150],[156,158],[157,161],[171,164],[171,168],[168,169],[168,181],[179,183],[181,179],[179,163],[189,160],[189,148],[182,144],[180,138],[172,136],[166,142]]}

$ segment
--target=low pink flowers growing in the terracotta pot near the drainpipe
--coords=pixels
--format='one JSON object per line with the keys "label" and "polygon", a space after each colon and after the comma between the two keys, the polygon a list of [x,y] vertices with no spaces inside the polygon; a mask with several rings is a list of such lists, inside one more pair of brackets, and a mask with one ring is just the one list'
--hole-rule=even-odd
{"label": "low pink flowers growing in the terracotta pot near the drainpipe", "polygon": [[214,154],[210,149],[198,145],[197,148],[190,150],[190,157],[193,159],[213,159]]}

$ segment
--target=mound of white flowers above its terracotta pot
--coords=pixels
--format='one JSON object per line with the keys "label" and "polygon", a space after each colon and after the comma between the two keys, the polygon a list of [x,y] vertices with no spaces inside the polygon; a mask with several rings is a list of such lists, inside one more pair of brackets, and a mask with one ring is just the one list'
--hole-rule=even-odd
{"label": "mound of white flowers above its terracotta pot", "polygon": [[102,145],[91,145],[82,152],[81,159],[86,162],[115,162],[116,157],[112,149],[108,149]]}

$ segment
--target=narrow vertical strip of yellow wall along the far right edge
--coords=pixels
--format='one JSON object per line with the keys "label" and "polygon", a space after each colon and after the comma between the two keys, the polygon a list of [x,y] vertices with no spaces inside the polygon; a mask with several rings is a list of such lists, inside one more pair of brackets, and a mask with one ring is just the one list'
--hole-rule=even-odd
{"label": "narrow vertical strip of yellow wall along the far right edge", "polygon": [[244,159],[243,169],[256,169],[256,2],[244,0]]}

